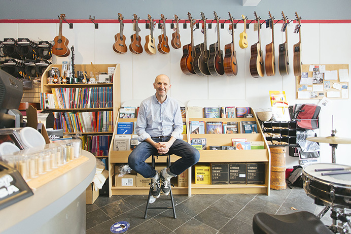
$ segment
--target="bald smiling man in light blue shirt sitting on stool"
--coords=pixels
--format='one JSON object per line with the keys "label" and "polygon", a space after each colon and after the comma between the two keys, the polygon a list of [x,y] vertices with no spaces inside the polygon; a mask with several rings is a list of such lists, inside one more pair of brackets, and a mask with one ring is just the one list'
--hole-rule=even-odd
{"label": "bald smiling man in light blue shirt sitting on stool", "polygon": [[[155,198],[160,196],[160,187],[163,194],[168,195],[170,178],[183,173],[200,159],[199,151],[182,140],[182,114],[178,102],[167,96],[170,86],[168,76],[158,75],[154,82],[156,94],[140,104],[135,132],[141,143],[128,157],[131,169],[145,178],[151,178],[151,194]],[[181,158],[169,169],[164,168],[158,173],[145,162],[147,158],[157,153],[175,154]]]}

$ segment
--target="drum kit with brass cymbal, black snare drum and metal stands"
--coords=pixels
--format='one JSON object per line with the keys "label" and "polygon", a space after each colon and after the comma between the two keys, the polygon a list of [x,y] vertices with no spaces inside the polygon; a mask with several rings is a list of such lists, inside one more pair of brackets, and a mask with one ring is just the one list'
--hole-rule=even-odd
{"label": "drum kit with brass cymbal, black snare drum and metal stands", "polygon": [[332,163],[313,163],[303,167],[303,188],[314,198],[314,203],[325,206],[317,216],[322,218],[331,209],[333,224],[329,229],[335,233],[351,233],[351,166],[335,163],[338,144],[351,144],[351,139],[335,136],[307,138],[308,141],[329,143],[332,147]]}

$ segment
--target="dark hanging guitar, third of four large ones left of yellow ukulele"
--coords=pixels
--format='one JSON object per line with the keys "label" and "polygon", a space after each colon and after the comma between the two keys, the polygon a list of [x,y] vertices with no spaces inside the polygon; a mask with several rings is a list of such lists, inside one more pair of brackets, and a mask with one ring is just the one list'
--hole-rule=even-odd
{"label": "dark hanging guitar, third of four large ones left of yellow ukulele", "polygon": [[223,51],[220,45],[220,27],[219,18],[217,13],[214,11],[215,20],[217,21],[217,42],[209,46],[209,56],[208,56],[208,71],[213,76],[223,75]]}

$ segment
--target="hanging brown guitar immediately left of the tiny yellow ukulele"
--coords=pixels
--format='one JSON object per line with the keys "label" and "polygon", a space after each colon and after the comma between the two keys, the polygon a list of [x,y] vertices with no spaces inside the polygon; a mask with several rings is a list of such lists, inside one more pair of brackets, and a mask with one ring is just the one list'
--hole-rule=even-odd
{"label": "hanging brown guitar immediately left of the tiny yellow ukulele", "polygon": [[231,29],[232,32],[232,42],[224,46],[225,55],[223,59],[223,65],[224,72],[227,76],[236,76],[238,73],[238,66],[236,62],[236,51],[234,48],[234,18],[231,16],[230,12],[228,13],[231,22],[231,24],[229,24],[229,29]]}

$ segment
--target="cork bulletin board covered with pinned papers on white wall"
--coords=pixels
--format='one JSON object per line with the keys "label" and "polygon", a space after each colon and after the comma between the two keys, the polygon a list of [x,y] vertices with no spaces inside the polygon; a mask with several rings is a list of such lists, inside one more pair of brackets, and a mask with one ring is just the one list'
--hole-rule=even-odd
{"label": "cork bulletin board covered with pinned papers on white wall", "polygon": [[303,64],[296,99],[348,99],[348,64]]}

